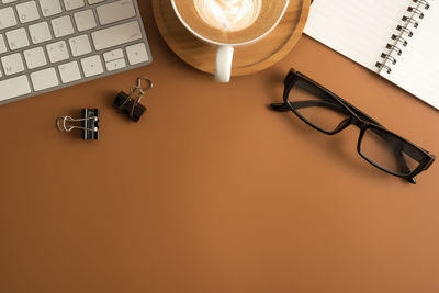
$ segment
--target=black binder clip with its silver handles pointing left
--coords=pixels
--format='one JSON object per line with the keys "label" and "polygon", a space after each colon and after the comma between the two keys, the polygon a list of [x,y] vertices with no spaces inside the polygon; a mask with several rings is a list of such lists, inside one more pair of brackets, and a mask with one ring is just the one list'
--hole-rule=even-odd
{"label": "black binder clip with its silver handles pointing left", "polygon": [[[71,132],[72,129],[82,131],[83,140],[99,139],[99,109],[82,109],[81,119],[72,119],[70,116],[60,116],[56,120],[56,126],[60,132]],[[68,123],[81,123],[81,126],[67,125]]]}

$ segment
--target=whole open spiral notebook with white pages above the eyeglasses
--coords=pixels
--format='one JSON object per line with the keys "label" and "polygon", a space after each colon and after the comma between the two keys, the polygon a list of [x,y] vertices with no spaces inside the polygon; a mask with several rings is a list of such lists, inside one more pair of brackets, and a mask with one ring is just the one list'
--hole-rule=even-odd
{"label": "whole open spiral notebook with white pages above the eyeglasses", "polygon": [[314,0],[305,33],[439,109],[439,0]]}

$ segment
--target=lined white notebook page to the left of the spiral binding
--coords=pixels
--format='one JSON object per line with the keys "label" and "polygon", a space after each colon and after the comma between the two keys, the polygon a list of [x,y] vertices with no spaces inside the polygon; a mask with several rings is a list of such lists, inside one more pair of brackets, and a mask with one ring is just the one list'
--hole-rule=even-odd
{"label": "lined white notebook page to the left of the spiral binding", "polygon": [[410,3],[412,0],[315,0],[305,33],[378,71],[375,64]]}

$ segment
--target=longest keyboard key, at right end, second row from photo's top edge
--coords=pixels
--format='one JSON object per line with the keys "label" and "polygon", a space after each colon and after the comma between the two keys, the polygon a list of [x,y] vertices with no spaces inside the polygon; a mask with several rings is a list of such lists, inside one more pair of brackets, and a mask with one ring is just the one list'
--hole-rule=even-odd
{"label": "longest keyboard key, at right end, second row from photo's top edge", "polygon": [[140,26],[137,21],[119,24],[109,29],[92,32],[97,50],[119,46],[142,38]]}

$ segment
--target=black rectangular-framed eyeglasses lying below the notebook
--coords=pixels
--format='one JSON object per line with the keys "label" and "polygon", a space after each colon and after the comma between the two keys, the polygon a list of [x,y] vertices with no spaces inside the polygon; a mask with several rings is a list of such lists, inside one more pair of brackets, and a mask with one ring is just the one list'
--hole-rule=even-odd
{"label": "black rectangular-framed eyeglasses lying below the notebook", "polygon": [[271,104],[278,112],[292,111],[309,126],[328,135],[349,125],[360,128],[357,150],[367,161],[416,184],[415,176],[427,170],[435,156],[387,131],[340,97],[291,69],[284,80],[283,103]]}

